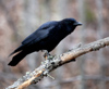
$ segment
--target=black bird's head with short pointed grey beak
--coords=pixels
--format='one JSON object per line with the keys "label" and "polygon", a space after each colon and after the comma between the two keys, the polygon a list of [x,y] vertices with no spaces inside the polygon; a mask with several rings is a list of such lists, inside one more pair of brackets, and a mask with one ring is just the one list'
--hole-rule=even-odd
{"label": "black bird's head with short pointed grey beak", "polygon": [[77,22],[74,18],[64,18],[61,21],[65,27],[65,29],[70,33],[72,33],[76,26],[81,26],[82,23]]}

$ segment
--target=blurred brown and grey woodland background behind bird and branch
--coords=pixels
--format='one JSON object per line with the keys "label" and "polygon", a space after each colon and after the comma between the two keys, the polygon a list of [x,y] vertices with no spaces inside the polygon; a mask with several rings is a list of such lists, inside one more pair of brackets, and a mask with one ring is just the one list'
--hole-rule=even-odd
{"label": "blurred brown and grey woodland background behind bird and branch", "polygon": [[[44,60],[44,53],[36,52],[10,67],[12,58],[8,55],[45,22],[65,17],[74,17],[83,26],[62,40],[52,54],[109,36],[109,0],[0,0],[0,89],[38,67]],[[77,58],[50,75],[56,79],[46,77],[27,89],[109,89],[109,47]]]}

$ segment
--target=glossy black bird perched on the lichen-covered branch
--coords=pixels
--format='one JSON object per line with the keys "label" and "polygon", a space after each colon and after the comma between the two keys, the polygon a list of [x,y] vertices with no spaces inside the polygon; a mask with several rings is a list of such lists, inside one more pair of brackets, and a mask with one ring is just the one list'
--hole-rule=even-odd
{"label": "glossy black bird perched on the lichen-covered branch", "polygon": [[35,51],[47,50],[50,52],[78,25],[82,24],[74,18],[51,21],[43,24],[37,30],[24,39],[22,44],[10,54],[16,53],[9,65],[15,66],[23,58]]}

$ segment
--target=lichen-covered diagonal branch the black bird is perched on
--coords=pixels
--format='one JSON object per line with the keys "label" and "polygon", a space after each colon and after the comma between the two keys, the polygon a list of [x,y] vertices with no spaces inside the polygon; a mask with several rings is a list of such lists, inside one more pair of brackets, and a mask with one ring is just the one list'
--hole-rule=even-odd
{"label": "lichen-covered diagonal branch the black bird is perched on", "polygon": [[5,89],[24,89],[31,85],[37,84],[44,77],[49,76],[49,73],[59,66],[74,61],[74,59],[86,54],[92,51],[97,51],[100,48],[109,46],[109,37],[97,40],[88,44],[81,44],[74,49],[60,54],[59,56],[49,56],[48,60],[41,63],[41,65],[33,72],[27,72],[22,78],[17,79],[12,86]]}

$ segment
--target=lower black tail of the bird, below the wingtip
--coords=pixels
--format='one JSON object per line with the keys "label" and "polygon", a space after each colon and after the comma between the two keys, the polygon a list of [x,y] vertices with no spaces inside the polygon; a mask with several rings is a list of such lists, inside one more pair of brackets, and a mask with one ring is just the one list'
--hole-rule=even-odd
{"label": "lower black tail of the bird, below the wingtip", "polygon": [[13,56],[12,61],[8,64],[10,66],[15,66],[20,61],[22,61],[26,56],[27,52],[21,51],[16,55]]}

